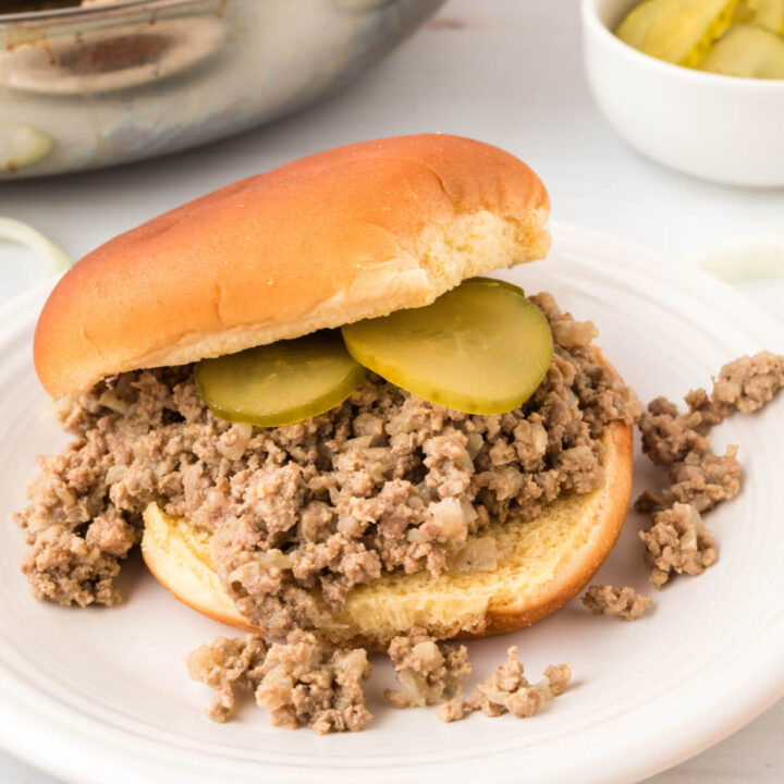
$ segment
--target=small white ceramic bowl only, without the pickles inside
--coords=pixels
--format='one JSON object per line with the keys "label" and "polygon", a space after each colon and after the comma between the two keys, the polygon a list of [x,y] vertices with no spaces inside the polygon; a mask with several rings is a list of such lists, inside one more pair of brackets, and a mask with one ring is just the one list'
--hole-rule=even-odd
{"label": "small white ceramic bowl only, without the pickles inside", "polygon": [[637,51],[613,30],[639,0],[583,0],[588,82],[632,147],[731,185],[784,185],[784,81],[721,76]]}

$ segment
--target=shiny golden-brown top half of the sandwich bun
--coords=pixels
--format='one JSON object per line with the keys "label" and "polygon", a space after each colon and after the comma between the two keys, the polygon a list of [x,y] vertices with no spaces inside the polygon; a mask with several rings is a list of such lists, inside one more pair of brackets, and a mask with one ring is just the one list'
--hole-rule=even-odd
{"label": "shiny golden-brown top half of the sandwich bun", "polygon": [[191,201],[85,256],[35,334],[54,397],[420,307],[542,258],[550,203],[520,160],[421,134],[302,158]]}

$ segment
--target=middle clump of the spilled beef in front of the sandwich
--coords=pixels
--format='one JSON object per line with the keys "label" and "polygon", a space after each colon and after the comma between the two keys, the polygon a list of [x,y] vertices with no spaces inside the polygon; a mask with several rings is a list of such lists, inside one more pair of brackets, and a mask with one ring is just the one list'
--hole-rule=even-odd
{"label": "middle clump of the spilled beef in front of the sandwich", "polygon": [[403,690],[387,689],[394,708],[437,705],[463,693],[463,678],[471,671],[465,646],[439,645],[427,629],[414,627],[394,637],[388,654]]}

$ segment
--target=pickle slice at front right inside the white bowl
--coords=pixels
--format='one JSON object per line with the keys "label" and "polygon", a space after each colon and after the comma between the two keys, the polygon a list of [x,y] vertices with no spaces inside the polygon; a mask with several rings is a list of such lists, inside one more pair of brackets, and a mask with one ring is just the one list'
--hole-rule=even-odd
{"label": "pickle slice at front right inside the white bowl", "polygon": [[784,79],[784,39],[764,27],[733,27],[711,49],[701,69],[725,76]]}

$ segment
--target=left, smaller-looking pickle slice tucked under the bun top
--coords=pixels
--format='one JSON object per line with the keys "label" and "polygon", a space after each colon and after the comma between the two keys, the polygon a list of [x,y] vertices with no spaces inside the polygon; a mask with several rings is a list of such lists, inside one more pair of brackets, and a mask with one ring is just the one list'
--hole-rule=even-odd
{"label": "left, smaller-looking pickle slice tucked under the bun top", "polygon": [[338,331],[323,331],[203,359],[194,375],[216,416],[278,427],[339,405],[365,380],[366,371],[352,359]]}

